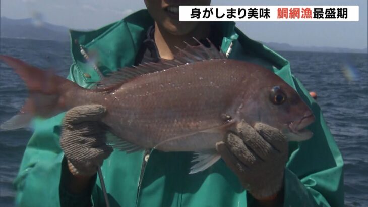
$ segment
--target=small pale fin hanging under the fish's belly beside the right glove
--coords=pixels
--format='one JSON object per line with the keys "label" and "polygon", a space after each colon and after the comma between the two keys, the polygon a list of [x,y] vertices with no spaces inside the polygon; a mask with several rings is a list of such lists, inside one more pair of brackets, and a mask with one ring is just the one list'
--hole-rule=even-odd
{"label": "small pale fin hanging under the fish's belly beside the right glove", "polygon": [[216,150],[194,152],[192,163],[197,162],[191,167],[189,174],[195,174],[206,170],[215,164],[221,156],[217,154]]}

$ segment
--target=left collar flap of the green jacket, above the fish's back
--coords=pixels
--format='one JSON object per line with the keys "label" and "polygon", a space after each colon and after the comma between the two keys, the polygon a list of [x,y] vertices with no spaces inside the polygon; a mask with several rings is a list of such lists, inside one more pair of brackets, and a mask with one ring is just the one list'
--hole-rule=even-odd
{"label": "left collar flap of the green jacket, above the fish's back", "polygon": [[140,10],[97,30],[71,30],[72,59],[82,81],[93,83],[100,79],[98,71],[106,75],[133,65],[146,31],[153,23],[147,10]]}

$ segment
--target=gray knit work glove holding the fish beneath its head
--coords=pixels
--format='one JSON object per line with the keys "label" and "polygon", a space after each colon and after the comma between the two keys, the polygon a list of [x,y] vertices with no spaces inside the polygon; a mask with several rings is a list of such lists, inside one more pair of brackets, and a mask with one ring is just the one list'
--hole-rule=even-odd
{"label": "gray knit work glove holding the fish beneath its head", "polygon": [[278,129],[262,123],[252,128],[241,121],[236,132],[227,133],[216,149],[256,199],[275,196],[283,187],[288,143]]}

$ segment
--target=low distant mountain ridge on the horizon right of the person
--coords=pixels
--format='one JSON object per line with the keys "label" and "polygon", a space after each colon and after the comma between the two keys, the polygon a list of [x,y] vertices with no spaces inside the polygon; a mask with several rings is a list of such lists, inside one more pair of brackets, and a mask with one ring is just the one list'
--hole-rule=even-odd
{"label": "low distant mountain ridge on the horizon right of the person", "polygon": [[368,48],[364,49],[349,49],[340,47],[301,47],[292,46],[286,43],[276,43],[276,42],[263,42],[267,47],[274,49],[276,51],[310,51],[310,52],[324,52],[324,53],[368,53]]}

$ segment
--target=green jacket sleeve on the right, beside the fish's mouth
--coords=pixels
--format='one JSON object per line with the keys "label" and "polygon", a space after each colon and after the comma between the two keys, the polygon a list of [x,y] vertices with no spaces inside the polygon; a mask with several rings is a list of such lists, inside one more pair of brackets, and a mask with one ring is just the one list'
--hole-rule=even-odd
{"label": "green jacket sleeve on the right, beside the fish's mouth", "polygon": [[308,127],[314,133],[311,139],[289,145],[284,206],[344,206],[341,153],[320,107],[298,79],[293,77],[293,81],[316,120]]}

